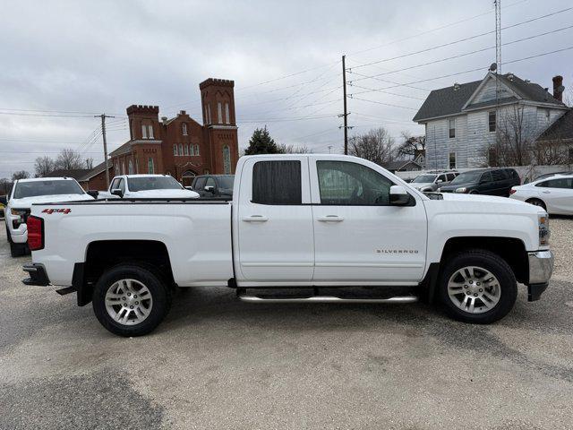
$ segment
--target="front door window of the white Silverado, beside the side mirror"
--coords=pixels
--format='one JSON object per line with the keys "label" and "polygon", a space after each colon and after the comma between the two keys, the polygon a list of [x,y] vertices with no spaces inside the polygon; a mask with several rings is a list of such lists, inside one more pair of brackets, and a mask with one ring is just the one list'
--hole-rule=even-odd
{"label": "front door window of the white Silverado, beside the side mirror", "polygon": [[322,204],[389,204],[393,184],[372,168],[348,161],[317,161],[316,167]]}

